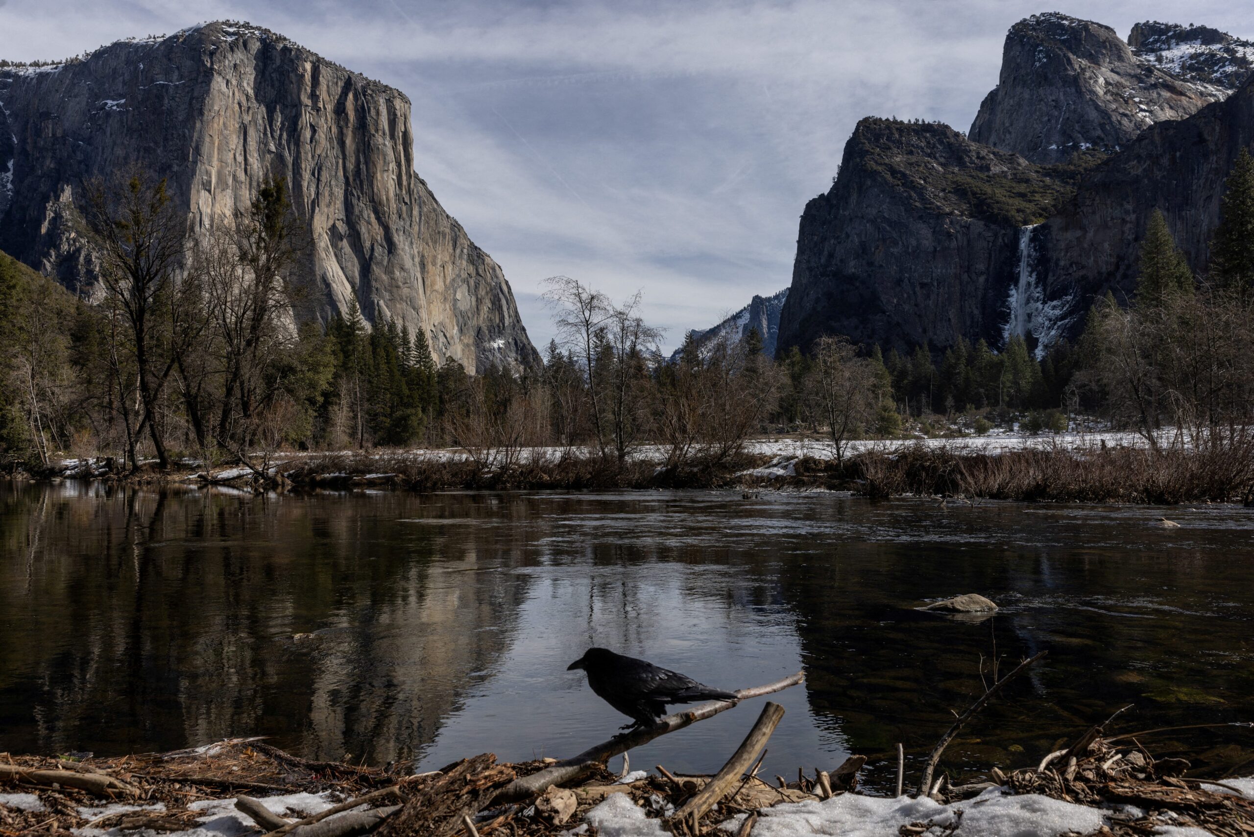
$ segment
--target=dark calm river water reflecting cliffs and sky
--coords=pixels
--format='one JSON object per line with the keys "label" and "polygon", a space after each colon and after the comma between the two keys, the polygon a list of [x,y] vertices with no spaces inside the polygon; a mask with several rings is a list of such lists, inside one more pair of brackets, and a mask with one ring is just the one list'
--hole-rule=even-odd
{"label": "dark calm river water reflecting cliffs and sky", "polygon": [[[981,658],[1048,649],[944,762],[1021,767],[1129,703],[1127,732],[1254,720],[1251,541],[1234,507],[0,483],[0,750],[569,755],[626,722],[566,671],[596,644],[720,688],[805,669],[766,772],[856,752],[884,787],[898,740],[923,758],[982,691]],[[962,592],[1003,609],[912,610]],[[633,762],[717,769],[761,703]],[[1254,772],[1250,729],[1144,743]]]}

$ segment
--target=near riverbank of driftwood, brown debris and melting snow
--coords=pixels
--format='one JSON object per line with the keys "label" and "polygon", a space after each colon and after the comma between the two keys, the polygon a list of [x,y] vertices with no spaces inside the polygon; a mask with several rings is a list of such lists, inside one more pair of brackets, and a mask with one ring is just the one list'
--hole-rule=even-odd
{"label": "near riverbank of driftwood, brown debris and melting snow", "polygon": [[[1097,727],[1042,758],[1035,769],[1006,776],[993,768],[987,778],[962,786],[942,778],[930,793],[913,797],[861,794],[859,759],[830,772],[800,770],[791,782],[766,781],[745,768],[722,791],[719,777],[676,776],[665,765],[632,772],[626,763],[616,774],[597,764],[567,787],[502,802],[520,777],[538,776],[553,759],[497,764],[483,754],[414,774],[409,763],[380,768],[302,759],[260,739],[120,758],[3,754],[0,832],[50,837],[1241,837],[1254,832],[1254,778],[1189,778],[1186,760],[1156,759],[1137,737],[1105,737]],[[716,797],[701,802],[710,788]],[[695,819],[685,814],[691,811],[698,811]]]}

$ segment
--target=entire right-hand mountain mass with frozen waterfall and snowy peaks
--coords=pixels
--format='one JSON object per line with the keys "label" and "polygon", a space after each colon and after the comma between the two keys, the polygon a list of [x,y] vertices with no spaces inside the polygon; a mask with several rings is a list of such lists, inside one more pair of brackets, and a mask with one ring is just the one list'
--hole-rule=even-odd
{"label": "entire right-hand mountain mass with frozen waterfall and snowy peaks", "polygon": [[1095,297],[1131,291],[1154,208],[1203,269],[1224,177],[1254,142],[1254,48],[1160,23],[1130,41],[1035,15],[1011,28],[968,137],[861,120],[801,216],[780,348],[846,334],[997,349],[1017,334],[1040,356]]}

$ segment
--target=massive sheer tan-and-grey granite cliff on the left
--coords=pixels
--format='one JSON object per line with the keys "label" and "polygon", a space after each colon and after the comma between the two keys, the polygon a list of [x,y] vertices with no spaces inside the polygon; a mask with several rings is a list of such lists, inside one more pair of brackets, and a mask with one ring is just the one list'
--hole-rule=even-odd
{"label": "massive sheer tan-and-grey granite cliff on the left", "polygon": [[94,290],[73,221],[85,179],[139,164],[204,236],[281,174],[308,222],[310,315],[356,299],[469,370],[539,359],[500,267],[415,174],[410,103],[393,88],[216,23],[0,69],[0,248],[69,287]]}

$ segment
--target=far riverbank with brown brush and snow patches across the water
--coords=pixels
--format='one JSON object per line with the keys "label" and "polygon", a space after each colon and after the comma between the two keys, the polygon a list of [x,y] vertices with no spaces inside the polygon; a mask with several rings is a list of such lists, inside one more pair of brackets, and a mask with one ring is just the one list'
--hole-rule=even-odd
{"label": "far riverbank with brown brush and snow patches across the water", "polygon": [[[1109,437],[1109,438],[1107,438]],[[34,479],[218,486],[243,492],[502,489],[845,491],[884,499],[1254,504],[1254,450],[1150,449],[1130,434],[989,435],[851,443],[836,456],[816,439],[764,439],[683,457],[641,447],[628,457],[582,448],[283,452],[204,468],[184,459],[119,473],[109,459],[19,469]]]}

